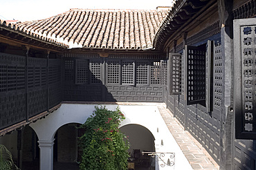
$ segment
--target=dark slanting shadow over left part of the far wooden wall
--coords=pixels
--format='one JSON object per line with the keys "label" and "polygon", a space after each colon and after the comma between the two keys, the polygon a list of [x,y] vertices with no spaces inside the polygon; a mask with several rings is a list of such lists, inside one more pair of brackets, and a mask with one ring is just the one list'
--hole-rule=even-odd
{"label": "dark slanting shadow over left part of the far wooden wall", "polygon": [[[102,82],[102,75],[105,75],[103,68],[100,71],[102,64],[102,59],[91,64],[89,59],[64,60],[62,99],[64,101],[116,102],[104,85],[106,83]],[[94,69],[94,73],[90,69]]]}

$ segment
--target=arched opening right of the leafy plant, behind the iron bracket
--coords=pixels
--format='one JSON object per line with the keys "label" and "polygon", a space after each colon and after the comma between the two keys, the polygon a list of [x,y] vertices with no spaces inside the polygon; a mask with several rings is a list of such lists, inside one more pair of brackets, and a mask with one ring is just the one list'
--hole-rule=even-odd
{"label": "arched opening right of the leafy plant, behind the iron bracket", "polygon": [[144,126],[139,124],[127,124],[120,127],[120,131],[128,136],[130,148],[129,166],[134,169],[154,169],[155,160],[151,156],[142,152],[154,152],[154,135]]}

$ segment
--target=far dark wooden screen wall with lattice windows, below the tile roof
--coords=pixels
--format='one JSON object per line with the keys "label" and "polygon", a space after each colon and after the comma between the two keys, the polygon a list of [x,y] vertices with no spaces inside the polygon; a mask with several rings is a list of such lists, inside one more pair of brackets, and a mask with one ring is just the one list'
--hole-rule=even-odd
{"label": "far dark wooden screen wall with lattice windows, below the tile roof", "polygon": [[[88,65],[85,61],[89,62]],[[167,61],[132,57],[65,57],[63,66],[64,100],[163,102],[163,85],[167,82]],[[86,66],[89,66],[88,73]],[[82,78],[87,76],[89,78]],[[76,77],[76,80],[73,77]],[[81,77],[82,81],[89,81],[78,83],[77,77]]]}

